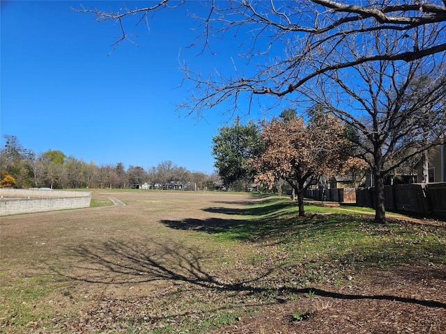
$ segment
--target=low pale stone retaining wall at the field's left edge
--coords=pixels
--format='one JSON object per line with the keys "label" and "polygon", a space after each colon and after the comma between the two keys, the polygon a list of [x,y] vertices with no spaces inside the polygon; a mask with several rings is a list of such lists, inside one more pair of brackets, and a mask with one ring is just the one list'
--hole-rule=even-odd
{"label": "low pale stone retaining wall at the field's left edge", "polygon": [[89,207],[91,192],[0,189],[0,216]]}

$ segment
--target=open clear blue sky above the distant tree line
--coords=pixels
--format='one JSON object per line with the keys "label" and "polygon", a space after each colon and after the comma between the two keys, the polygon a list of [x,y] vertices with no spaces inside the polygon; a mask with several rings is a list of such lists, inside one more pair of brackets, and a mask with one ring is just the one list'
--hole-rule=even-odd
{"label": "open clear blue sky above the distant tree line", "polygon": [[201,8],[187,1],[157,12],[150,31],[131,23],[136,45],[123,42],[107,56],[120,34],[116,23],[95,22],[70,7],[116,10],[123,3],[154,2],[1,1],[1,144],[8,134],[36,154],[61,150],[98,166],[148,168],[171,160],[211,173],[212,136],[228,121],[221,113],[229,106],[199,121],[178,115],[176,104],[187,95],[178,88],[178,60],[203,74],[213,67],[224,71],[240,40],[219,40],[217,56],[185,48],[199,33],[186,10]]}

